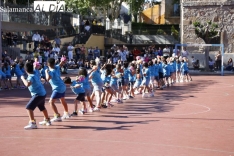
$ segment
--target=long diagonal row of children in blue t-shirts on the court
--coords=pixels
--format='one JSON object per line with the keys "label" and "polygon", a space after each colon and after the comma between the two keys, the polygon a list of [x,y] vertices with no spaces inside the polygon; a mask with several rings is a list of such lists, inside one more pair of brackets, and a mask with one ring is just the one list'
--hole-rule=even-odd
{"label": "long diagonal row of children in blue t-shirts on the court", "polygon": [[[181,57],[158,56],[147,63],[143,62],[141,57],[137,57],[136,61],[130,63],[118,61],[117,64],[112,64],[108,60],[102,66],[100,62],[91,60],[91,70],[80,68],[74,80],[70,77],[61,78],[60,68],[65,63],[64,56],[58,65],[54,58],[49,58],[44,66],[41,66],[37,59],[28,61],[24,66],[27,76],[23,74],[18,64],[15,65],[14,72],[17,79],[21,79],[32,95],[26,105],[30,121],[25,129],[37,128],[33,114],[36,107],[44,114],[44,121],[39,124],[51,125],[51,122],[62,121],[71,116],[77,116],[78,113],[85,114],[100,111],[101,108],[113,107],[113,103],[123,103],[123,100],[134,98],[137,94],[142,94],[142,98],[153,97],[156,89],[169,87],[176,82],[192,80],[188,72],[187,59]],[[10,68],[8,64],[4,64],[3,70],[0,70],[1,80],[9,78],[7,75],[11,73]],[[46,90],[41,78],[45,79],[45,82],[49,82],[52,87],[49,100],[54,112],[52,119],[49,118],[45,108]],[[65,100],[67,87],[70,87],[76,95],[72,114],[68,113],[68,105]],[[93,104],[94,97],[95,105]],[[60,115],[55,105],[57,99],[64,108],[63,116]],[[88,105],[86,105],[85,99],[87,99]],[[80,109],[77,106],[78,102],[82,106]]]}

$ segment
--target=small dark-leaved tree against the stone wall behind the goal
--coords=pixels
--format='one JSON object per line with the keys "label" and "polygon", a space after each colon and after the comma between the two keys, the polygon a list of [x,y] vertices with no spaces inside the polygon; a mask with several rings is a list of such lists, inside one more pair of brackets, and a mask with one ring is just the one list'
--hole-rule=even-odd
{"label": "small dark-leaved tree against the stone wall behind the goal", "polygon": [[[204,24],[195,21],[193,25],[195,27],[195,34],[197,37],[203,39],[206,44],[210,44],[212,39],[219,37],[219,31],[217,30],[218,25],[212,21],[208,21]],[[209,70],[209,50],[210,47],[205,48],[206,70]]]}

